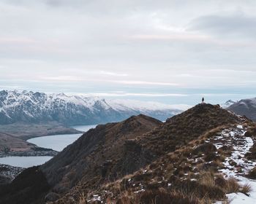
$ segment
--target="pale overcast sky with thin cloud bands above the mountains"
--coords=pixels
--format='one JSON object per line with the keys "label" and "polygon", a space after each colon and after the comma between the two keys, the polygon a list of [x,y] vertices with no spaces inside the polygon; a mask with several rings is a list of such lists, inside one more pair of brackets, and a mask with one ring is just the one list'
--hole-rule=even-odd
{"label": "pale overcast sky with thin cloud bands above the mountains", "polygon": [[0,0],[0,89],[256,97],[256,1]]}

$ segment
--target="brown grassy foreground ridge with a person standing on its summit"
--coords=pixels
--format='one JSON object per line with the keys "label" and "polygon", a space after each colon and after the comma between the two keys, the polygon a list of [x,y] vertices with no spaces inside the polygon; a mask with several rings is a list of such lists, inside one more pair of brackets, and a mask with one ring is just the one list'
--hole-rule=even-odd
{"label": "brown grassy foreground ridge with a person standing on its summit", "polygon": [[237,180],[254,175],[255,135],[248,119],[206,103],[167,122],[140,115],[99,125],[36,171],[21,173],[0,189],[0,200],[28,200],[33,178],[43,189],[34,203],[227,201],[229,193],[249,195]]}

